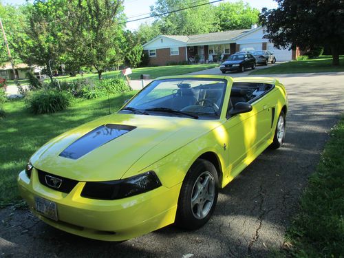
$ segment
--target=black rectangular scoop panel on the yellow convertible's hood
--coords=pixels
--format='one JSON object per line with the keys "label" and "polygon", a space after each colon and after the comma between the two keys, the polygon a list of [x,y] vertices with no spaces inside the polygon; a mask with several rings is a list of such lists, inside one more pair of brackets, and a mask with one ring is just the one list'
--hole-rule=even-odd
{"label": "black rectangular scoop panel on the yellow convertible's hood", "polygon": [[100,125],[96,129],[89,131],[78,138],[75,142],[70,144],[64,151],[60,153],[60,157],[70,158],[72,160],[77,160],[83,155],[97,149],[98,147],[114,140],[123,134],[135,129],[129,125],[114,125],[106,124]]}

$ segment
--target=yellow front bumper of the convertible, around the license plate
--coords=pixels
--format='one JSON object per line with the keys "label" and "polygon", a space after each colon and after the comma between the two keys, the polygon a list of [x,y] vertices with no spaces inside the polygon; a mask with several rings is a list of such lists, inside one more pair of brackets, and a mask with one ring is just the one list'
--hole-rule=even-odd
{"label": "yellow front bumper of the convertible, around the license plate", "polygon": [[[19,193],[34,215],[43,222],[74,235],[105,241],[122,241],[144,235],[175,221],[182,184],[158,189],[121,200],[93,200],[80,196],[85,182],[70,193],[54,191],[39,182],[33,169],[31,180],[21,171]],[[34,197],[56,203],[58,221],[35,211]]]}

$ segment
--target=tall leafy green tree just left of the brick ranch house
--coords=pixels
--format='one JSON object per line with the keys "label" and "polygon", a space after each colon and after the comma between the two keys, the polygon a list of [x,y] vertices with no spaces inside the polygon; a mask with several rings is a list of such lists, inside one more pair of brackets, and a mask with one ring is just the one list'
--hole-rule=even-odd
{"label": "tall leafy green tree just left of the brick ranch house", "polygon": [[96,68],[101,80],[107,67],[118,66],[124,60],[124,25],[119,24],[125,19],[123,0],[75,0],[72,3],[74,15],[69,16],[69,24],[78,30],[71,35],[78,50],[70,53],[75,58],[81,56],[80,63]]}

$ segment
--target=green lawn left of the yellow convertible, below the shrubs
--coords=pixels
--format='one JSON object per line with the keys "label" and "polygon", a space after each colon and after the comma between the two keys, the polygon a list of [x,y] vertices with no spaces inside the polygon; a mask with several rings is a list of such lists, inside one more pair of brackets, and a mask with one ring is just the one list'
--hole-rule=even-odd
{"label": "green lawn left of the yellow convertible, below the shrubs", "polygon": [[[117,111],[134,93],[111,96],[111,111]],[[17,175],[41,145],[64,131],[109,114],[107,98],[76,99],[66,111],[45,115],[28,113],[23,100],[9,101],[3,108],[6,117],[0,120],[0,207],[20,200]]]}

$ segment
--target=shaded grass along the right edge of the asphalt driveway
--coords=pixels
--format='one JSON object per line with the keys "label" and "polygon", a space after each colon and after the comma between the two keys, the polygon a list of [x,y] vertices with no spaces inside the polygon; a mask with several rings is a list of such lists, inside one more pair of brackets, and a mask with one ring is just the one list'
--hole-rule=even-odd
{"label": "shaded grass along the right edge of the asphalt driveway", "polygon": [[344,255],[344,116],[331,131],[316,172],[288,229],[294,257]]}

